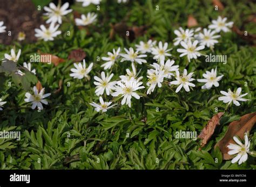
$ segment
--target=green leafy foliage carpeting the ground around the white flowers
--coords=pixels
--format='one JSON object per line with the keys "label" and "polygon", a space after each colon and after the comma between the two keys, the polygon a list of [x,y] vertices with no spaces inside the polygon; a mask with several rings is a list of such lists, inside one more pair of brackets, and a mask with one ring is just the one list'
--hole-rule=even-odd
{"label": "green leafy foliage carpeting the ground around the white flowers", "polygon": [[[45,5],[49,1],[35,1],[35,5]],[[43,3],[43,4],[42,4]],[[159,11],[156,10],[159,6]],[[79,13],[95,12],[95,6],[83,8],[79,3],[72,5],[73,11]],[[173,46],[175,35],[173,31],[179,26],[186,27],[187,16],[192,14],[199,25],[206,27],[218,15],[228,17],[235,25],[241,26],[245,18],[256,12],[252,3],[225,1],[225,10],[215,11],[211,1],[130,1],[127,5],[116,1],[102,1],[97,11],[98,20],[94,26],[86,30],[78,30],[69,14],[60,26],[62,35],[54,41],[39,40],[33,44],[18,44],[22,55],[18,64],[13,61],[3,62],[0,66],[1,98],[8,100],[4,110],[0,111],[0,130],[21,131],[21,141],[0,139],[1,169],[255,169],[255,159],[249,159],[241,164],[232,164],[222,160],[220,150],[214,149],[227,130],[228,124],[238,120],[240,116],[255,111],[256,88],[256,50],[233,32],[221,33],[219,43],[214,51],[205,53],[227,55],[227,64],[205,63],[204,57],[187,63],[184,57],[179,57],[177,46]],[[232,15],[230,17],[230,15]],[[134,41],[114,35],[111,40],[110,23],[126,21],[128,25],[146,25],[147,32]],[[248,32],[255,33],[255,26],[248,25]],[[66,35],[69,30],[70,37]],[[93,76],[98,75],[103,61],[97,61],[97,56],[121,47],[134,47],[139,41],[153,38],[166,41],[171,51],[171,59],[175,60],[180,69],[185,67],[188,72],[194,71],[193,78],[202,78],[206,70],[218,67],[218,74],[224,75],[218,88],[201,90],[201,83],[194,81],[196,87],[191,92],[175,93],[167,82],[162,88],[156,88],[151,94],[140,100],[132,100],[132,107],[120,105],[106,113],[97,113],[89,104],[97,102]],[[9,53],[13,46],[0,44],[0,58]],[[70,77],[73,63],[67,60],[58,66],[46,63],[32,63],[36,76],[27,69],[21,69],[19,64],[29,61],[30,55],[38,50],[51,53],[63,59],[68,59],[73,49],[82,48],[86,52],[86,64],[94,62],[90,73],[91,80],[75,80]],[[146,58],[148,64],[139,66],[140,76],[146,83],[146,71],[153,63],[152,56]],[[114,64],[111,72],[113,80],[124,75],[130,68],[130,62]],[[25,75],[15,73],[21,69]],[[49,105],[38,112],[31,110],[24,102],[26,90],[29,90],[38,80],[51,92]],[[59,80],[63,80],[62,89]],[[8,83],[11,82],[11,87]],[[68,87],[70,83],[70,87]],[[22,85],[20,87],[19,85]],[[247,85],[247,86],[246,86]],[[207,121],[217,112],[223,112],[226,104],[220,102],[220,90],[227,91],[241,87],[242,92],[248,92],[248,102],[241,106],[229,107],[220,120],[211,140],[199,150],[200,141],[192,139],[177,139],[176,132],[195,131],[197,135],[207,124]],[[24,89],[25,90],[24,90]],[[104,96],[105,97],[105,96]],[[111,100],[112,97],[104,99]],[[216,107],[218,111],[216,111]],[[255,149],[255,127],[251,131],[251,149]]]}

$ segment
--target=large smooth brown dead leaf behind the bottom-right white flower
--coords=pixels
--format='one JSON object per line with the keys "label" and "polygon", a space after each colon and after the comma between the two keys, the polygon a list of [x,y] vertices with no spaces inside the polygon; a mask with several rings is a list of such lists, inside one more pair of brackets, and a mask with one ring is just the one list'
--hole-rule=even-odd
{"label": "large smooth brown dead leaf behind the bottom-right white flower", "polygon": [[[232,155],[229,155],[227,152],[229,149],[227,145],[230,143],[235,143],[233,136],[237,135],[241,140],[244,139],[244,134],[250,132],[254,124],[256,123],[256,112],[245,114],[240,118],[240,120],[235,120],[228,125],[227,132],[223,139],[221,139],[216,145],[219,147],[224,160],[232,159]],[[235,143],[236,144],[236,143]]]}

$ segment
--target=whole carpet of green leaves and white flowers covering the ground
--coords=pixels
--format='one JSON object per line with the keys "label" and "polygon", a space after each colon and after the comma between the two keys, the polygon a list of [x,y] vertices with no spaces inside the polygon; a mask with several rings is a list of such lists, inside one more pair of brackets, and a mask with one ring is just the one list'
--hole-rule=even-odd
{"label": "whole carpet of green leaves and white flowers covering the ground", "polygon": [[256,168],[253,1],[31,3],[33,38],[0,19],[1,169]]}

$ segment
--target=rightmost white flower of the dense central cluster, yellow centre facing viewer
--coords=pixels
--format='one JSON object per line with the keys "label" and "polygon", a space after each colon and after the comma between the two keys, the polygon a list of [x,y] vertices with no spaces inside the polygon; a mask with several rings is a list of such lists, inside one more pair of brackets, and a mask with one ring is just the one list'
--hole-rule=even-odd
{"label": "rightmost white flower of the dense central cluster, yellow centre facing viewer", "polygon": [[196,87],[193,83],[190,83],[191,81],[194,81],[194,78],[191,78],[193,76],[193,73],[190,73],[187,75],[187,70],[183,70],[183,75],[180,76],[179,71],[176,71],[176,80],[170,82],[171,84],[179,85],[176,89],[176,93],[180,91],[180,89],[183,87],[187,92],[190,91],[190,87]]}

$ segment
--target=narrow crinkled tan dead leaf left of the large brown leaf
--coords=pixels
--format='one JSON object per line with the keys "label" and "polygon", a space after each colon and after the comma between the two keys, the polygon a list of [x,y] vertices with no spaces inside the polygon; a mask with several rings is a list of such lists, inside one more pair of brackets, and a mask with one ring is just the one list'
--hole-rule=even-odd
{"label": "narrow crinkled tan dead leaf left of the large brown leaf", "polygon": [[210,140],[212,134],[214,133],[215,127],[219,125],[220,118],[223,116],[224,112],[219,112],[215,114],[212,119],[210,119],[207,125],[203,128],[198,138],[202,139],[199,150],[206,145],[208,140]]}

